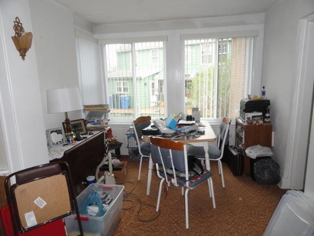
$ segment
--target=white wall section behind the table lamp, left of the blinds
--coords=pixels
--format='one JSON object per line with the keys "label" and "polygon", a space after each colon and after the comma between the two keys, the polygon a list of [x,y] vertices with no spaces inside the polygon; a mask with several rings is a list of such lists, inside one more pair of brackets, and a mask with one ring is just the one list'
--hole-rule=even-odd
{"label": "white wall section behind the table lamp, left of the blinds", "polygon": [[[61,127],[64,114],[47,113],[46,90],[78,87],[73,13],[52,0],[31,0],[30,13],[45,127]],[[82,118],[81,112],[69,118]]]}

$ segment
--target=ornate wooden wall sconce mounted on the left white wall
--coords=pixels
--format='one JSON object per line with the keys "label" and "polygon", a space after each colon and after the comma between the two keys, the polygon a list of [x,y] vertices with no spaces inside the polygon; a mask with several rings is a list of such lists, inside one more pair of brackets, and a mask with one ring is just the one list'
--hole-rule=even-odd
{"label": "ornate wooden wall sconce mounted on the left white wall", "polygon": [[16,49],[19,51],[20,56],[23,60],[25,60],[26,52],[31,47],[33,34],[31,32],[25,32],[19,17],[15,18],[13,29],[15,31],[15,35],[11,38]]}

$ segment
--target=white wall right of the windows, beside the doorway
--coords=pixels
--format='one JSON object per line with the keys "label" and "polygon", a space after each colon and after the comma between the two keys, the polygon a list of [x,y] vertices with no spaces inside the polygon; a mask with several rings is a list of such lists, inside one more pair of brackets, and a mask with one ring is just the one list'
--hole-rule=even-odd
{"label": "white wall right of the windows, beside the doorway", "polygon": [[[313,11],[314,1],[281,0],[265,13],[262,84],[266,87],[267,98],[271,100],[271,120],[275,131],[274,159],[281,166],[281,187],[284,188],[303,188],[304,172],[298,172],[294,179],[290,179],[287,142],[291,121],[291,93],[296,80],[293,75],[298,55],[295,52],[297,25],[299,19]],[[302,132],[307,136],[307,130]],[[304,156],[293,158],[300,158],[303,162],[305,159]]]}

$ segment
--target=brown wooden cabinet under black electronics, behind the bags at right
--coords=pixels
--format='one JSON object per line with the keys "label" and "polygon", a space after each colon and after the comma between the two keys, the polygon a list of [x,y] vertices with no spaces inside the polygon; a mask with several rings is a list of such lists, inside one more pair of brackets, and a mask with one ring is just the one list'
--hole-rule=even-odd
{"label": "brown wooden cabinet under black electronics, behind the bags at right", "polygon": [[[250,125],[245,124],[241,119],[235,119],[235,146],[243,145],[244,149],[261,145],[271,148],[271,136],[273,126],[271,124]],[[240,131],[239,131],[240,130]],[[242,135],[240,135],[242,134]],[[250,158],[244,155],[244,167],[245,174],[250,174]]]}

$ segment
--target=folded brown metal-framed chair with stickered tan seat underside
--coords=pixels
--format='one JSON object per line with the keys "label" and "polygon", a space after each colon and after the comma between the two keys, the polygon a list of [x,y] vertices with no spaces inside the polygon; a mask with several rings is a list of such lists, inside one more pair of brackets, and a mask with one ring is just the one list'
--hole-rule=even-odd
{"label": "folded brown metal-framed chair with stickered tan seat underside", "polygon": [[[16,183],[9,186],[14,177]],[[49,224],[62,221],[73,213],[77,215],[79,234],[83,236],[76,193],[66,162],[53,162],[12,173],[4,185],[15,236],[20,233],[33,235],[31,232],[38,231],[38,227],[49,230],[52,226]]]}

